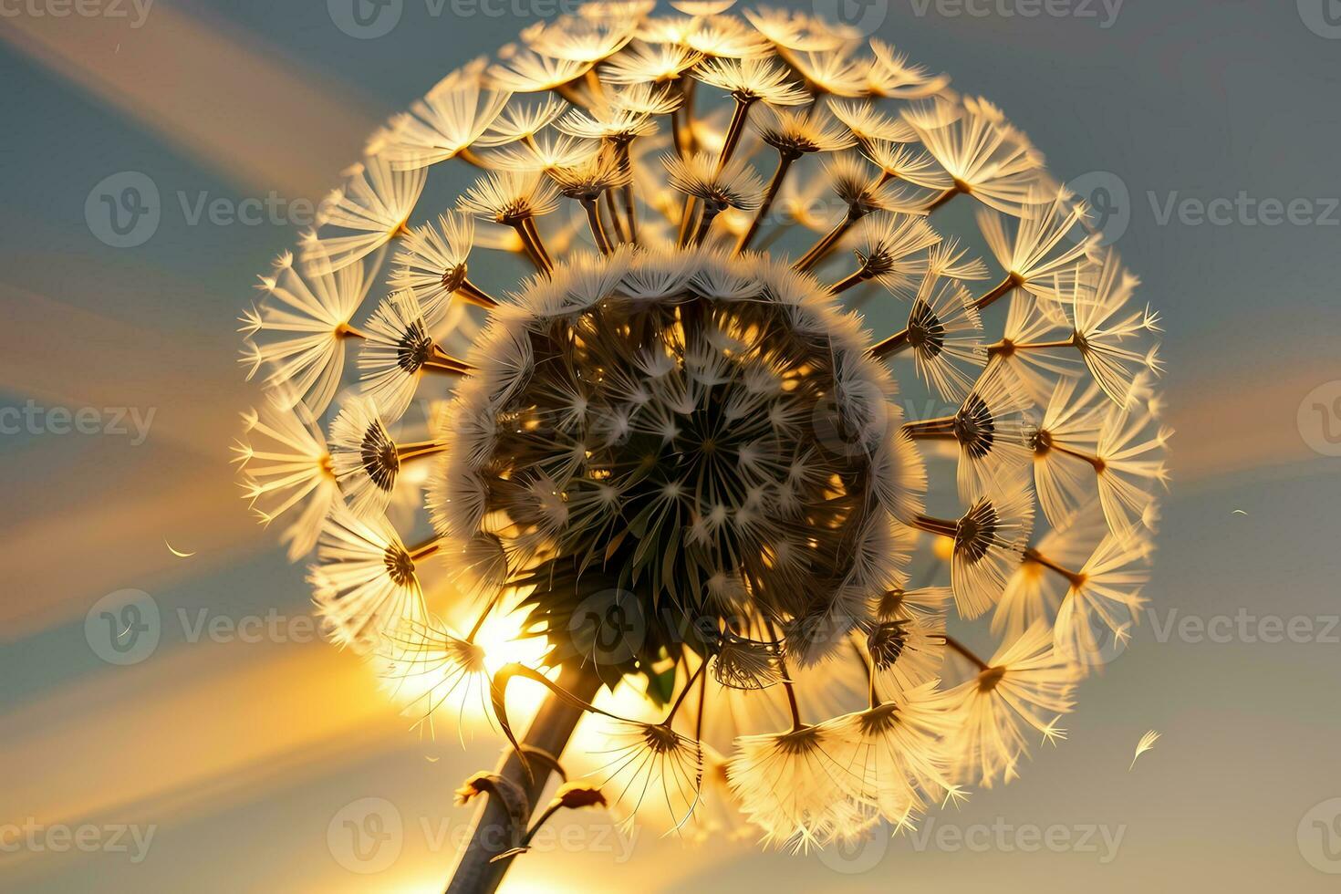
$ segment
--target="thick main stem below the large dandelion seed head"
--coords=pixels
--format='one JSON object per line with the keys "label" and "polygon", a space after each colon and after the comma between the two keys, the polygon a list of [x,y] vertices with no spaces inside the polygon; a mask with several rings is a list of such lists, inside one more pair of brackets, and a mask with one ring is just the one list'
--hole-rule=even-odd
{"label": "thick main stem below the large dandelion seed head", "polygon": [[[569,692],[581,701],[593,698],[601,688],[601,678],[590,670],[565,670],[562,678],[569,684]],[[585,710],[571,701],[550,694],[531,721],[531,728],[522,741],[523,748],[562,755],[583,713]],[[503,753],[498,775],[519,785],[526,792],[527,800],[536,804],[550,772],[540,768],[528,775],[522,755],[508,747]],[[512,856],[493,859],[507,851],[512,840],[507,807],[492,796],[484,796],[483,802],[475,814],[471,838],[457,858],[447,894],[491,894],[498,890],[504,873],[512,865]]]}

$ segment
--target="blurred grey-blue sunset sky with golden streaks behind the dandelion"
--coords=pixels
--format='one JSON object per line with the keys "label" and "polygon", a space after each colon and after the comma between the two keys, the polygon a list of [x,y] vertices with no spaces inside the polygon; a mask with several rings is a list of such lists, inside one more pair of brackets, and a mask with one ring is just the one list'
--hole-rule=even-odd
{"label": "blurred grey-blue sunset sky with golden streaks behind the dandelion", "polygon": [[[798,8],[991,98],[1109,210],[1167,330],[1152,610],[1067,741],[916,835],[791,856],[569,818],[503,890],[1334,890],[1341,9],[841,3]],[[377,36],[347,7],[0,3],[5,891],[437,890],[452,789],[495,761],[487,733],[422,743],[314,635],[237,499],[235,330],[381,119],[562,4],[393,0]],[[152,232],[110,227],[103,196],[153,193]],[[154,642],[99,649],[127,590]],[[350,824],[392,830],[377,871]]]}

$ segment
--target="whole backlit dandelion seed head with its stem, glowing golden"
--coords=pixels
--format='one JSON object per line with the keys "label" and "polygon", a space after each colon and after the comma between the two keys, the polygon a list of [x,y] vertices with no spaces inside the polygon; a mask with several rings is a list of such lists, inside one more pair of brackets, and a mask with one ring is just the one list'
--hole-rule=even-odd
{"label": "whole backlit dandelion seed head with its stem, glowing golden", "polygon": [[[243,314],[244,496],[326,631],[514,752],[453,890],[565,808],[912,828],[1063,740],[1145,604],[1159,318],[1042,154],[854,28],[652,5],[448,75]],[[429,165],[469,180],[434,205]]]}

